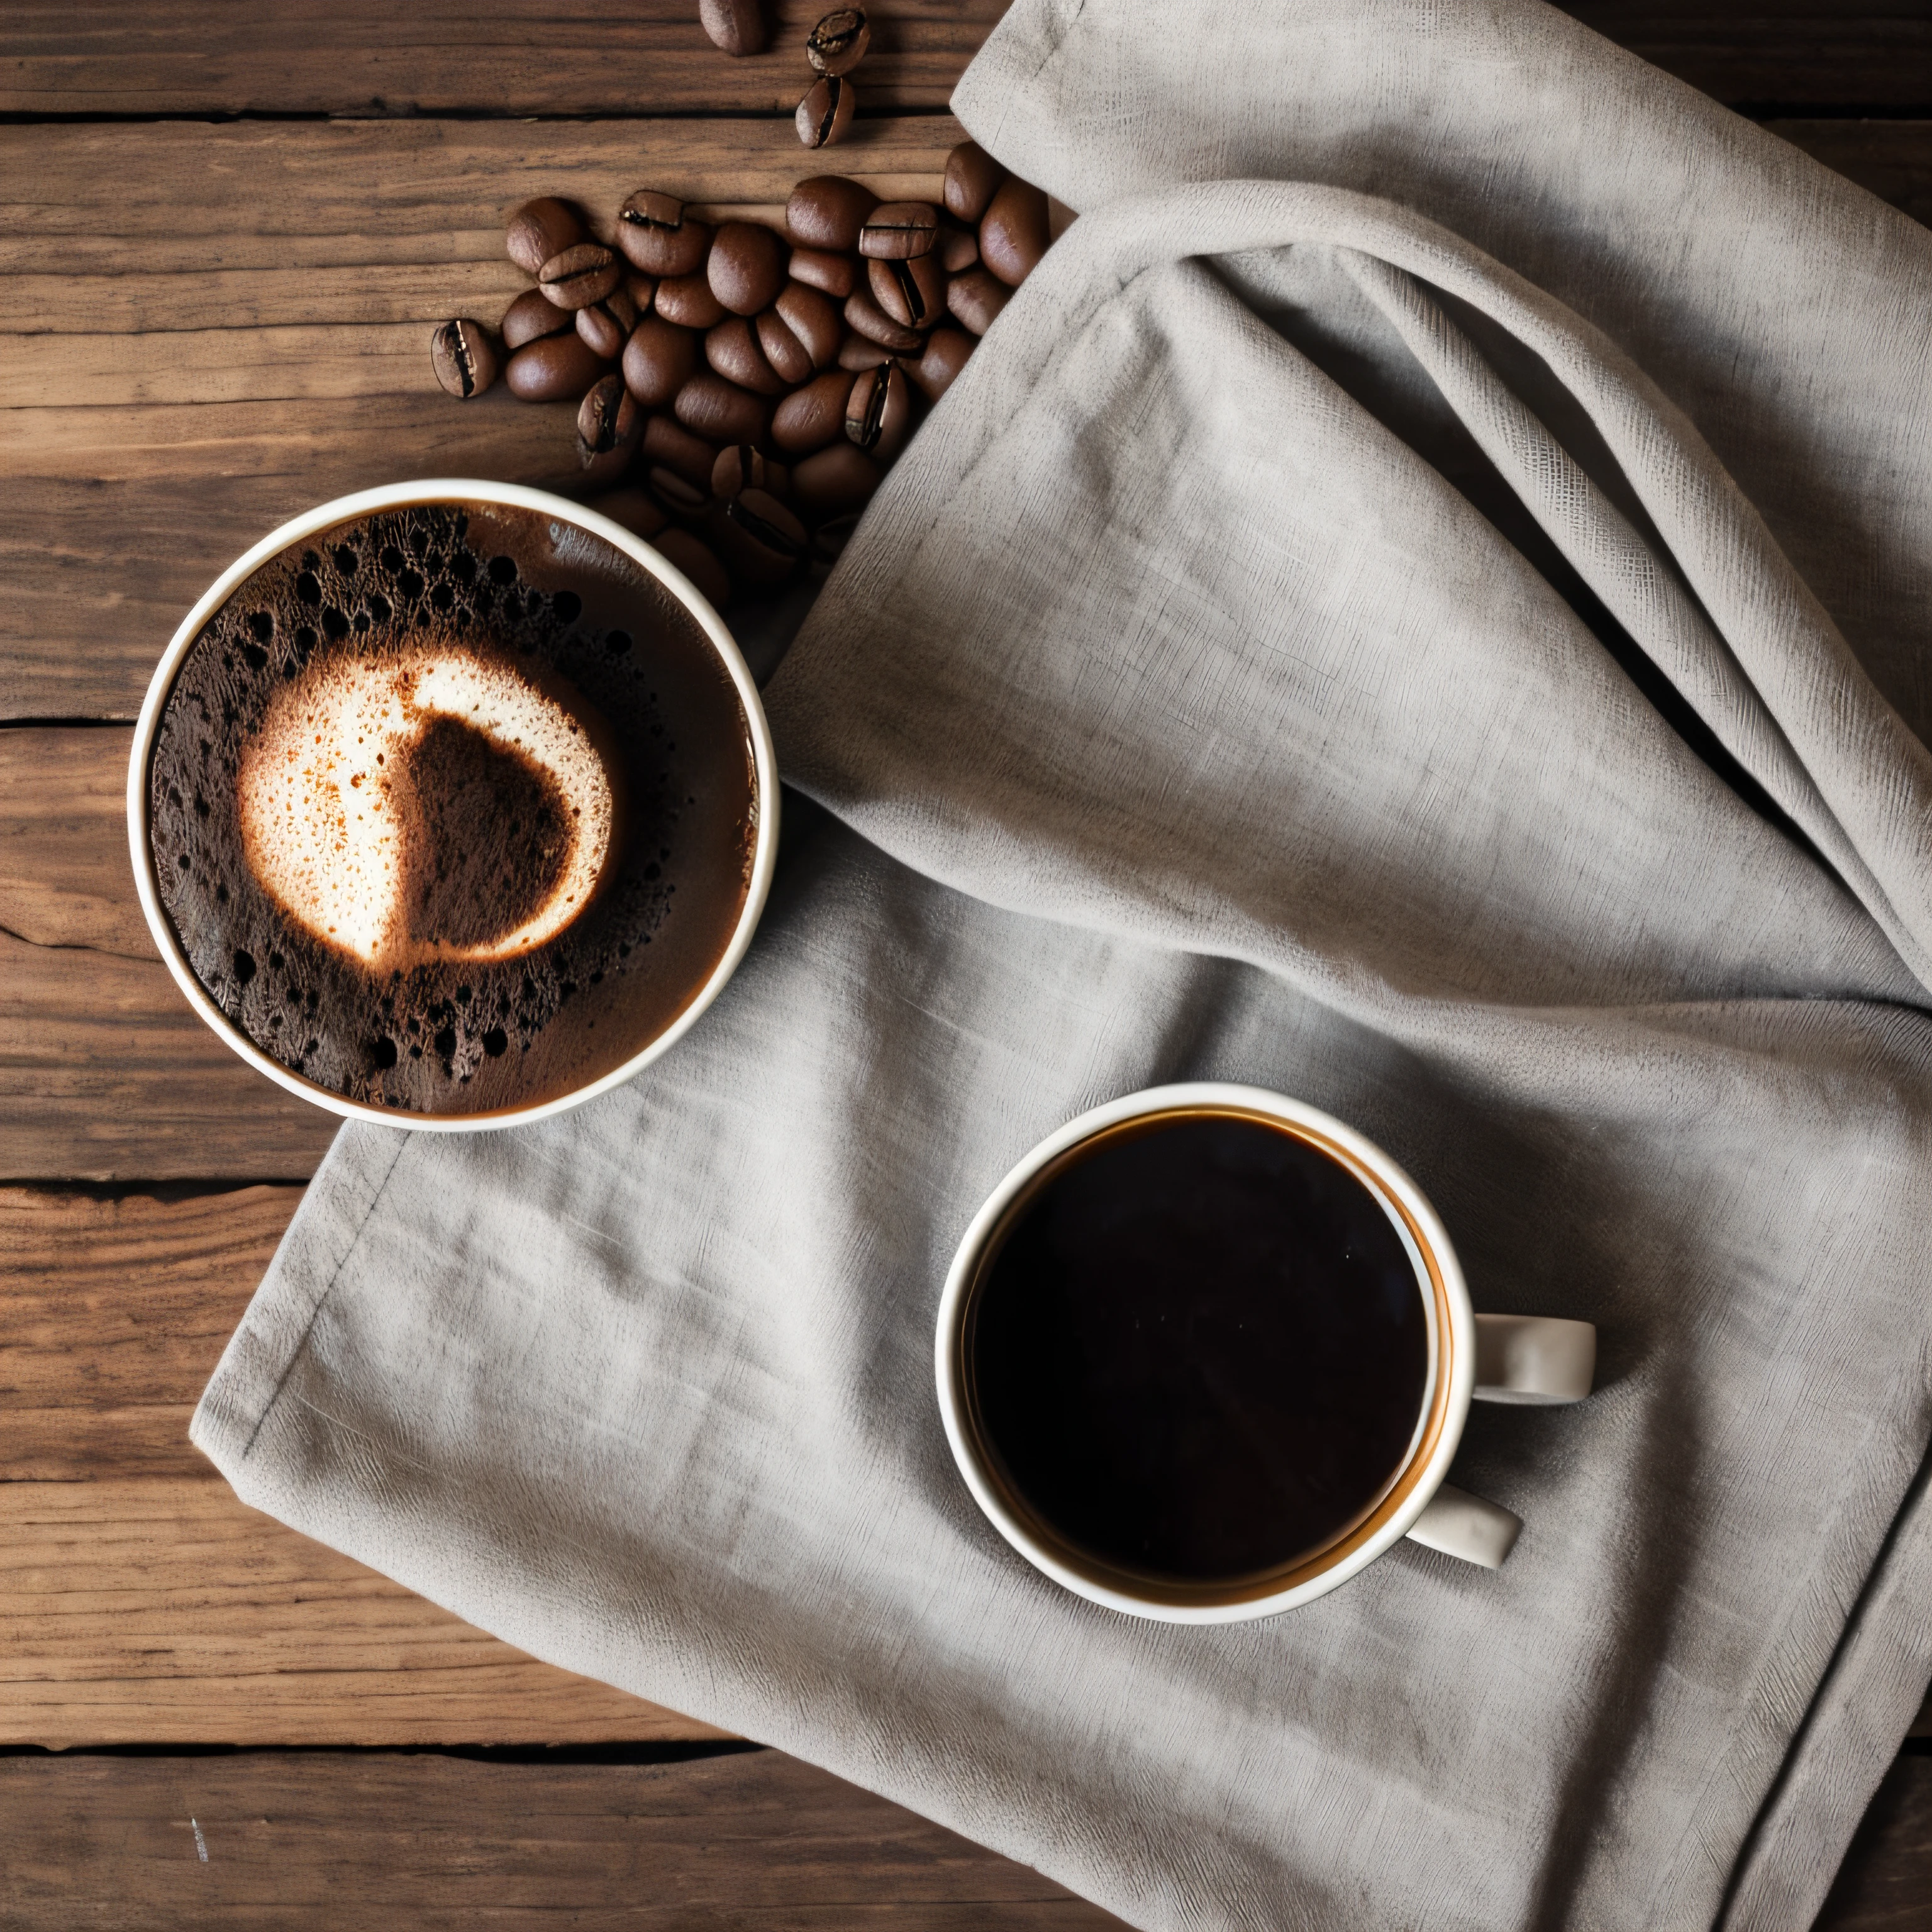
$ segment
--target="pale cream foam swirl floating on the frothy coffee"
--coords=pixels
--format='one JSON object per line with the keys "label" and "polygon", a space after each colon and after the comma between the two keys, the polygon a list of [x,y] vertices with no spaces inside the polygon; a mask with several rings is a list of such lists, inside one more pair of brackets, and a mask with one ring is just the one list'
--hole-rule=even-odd
{"label": "pale cream foam swirl floating on the frothy coffee", "polygon": [[[564,798],[556,885],[512,931],[471,945],[412,939],[404,850],[415,779],[410,752],[437,719],[458,719]],[[238,771],[247,864],[319,939],[369,966],[500,960],[554,939],[591,900],[611,854],[611,775],[589,732],[514,665],[462,647],[377,663],[328,659],[276,694]]]}

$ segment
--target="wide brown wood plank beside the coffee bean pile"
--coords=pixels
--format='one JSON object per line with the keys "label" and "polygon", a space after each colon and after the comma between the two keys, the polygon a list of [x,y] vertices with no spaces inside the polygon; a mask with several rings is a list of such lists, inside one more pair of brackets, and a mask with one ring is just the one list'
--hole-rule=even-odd
{"label": "wide brown wood plank beside the coffee bean pile", "polygon": [[[958,137],[867,122],[840,166],[929,195]],[[576,489],[568,406],[429,373],[433,323],[524,286],[518,201],[609,226],[639,185],[775,207],[821,166],[765,122],[0,128],[0,719],[131,719],[211,578],[328,497]]]}

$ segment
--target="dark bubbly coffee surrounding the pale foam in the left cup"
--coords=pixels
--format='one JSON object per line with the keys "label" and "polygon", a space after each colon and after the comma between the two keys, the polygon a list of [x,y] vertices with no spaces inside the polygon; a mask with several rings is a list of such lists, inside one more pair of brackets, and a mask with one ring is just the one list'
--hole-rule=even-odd
{"label": "dark bubbly coffee surrounding the pale foam in the left cup", "polygon": [[[249,862],[263,827],[259,808],[243,821],[238,775],[265,734],[290,736],[292,694],[425,653],[547,694],[611,781],[589,904],[514,956],[475,954],[543,908],[582,848],[556,761],[508,732],[425,715],[357,773],[396,777],[383,958],[311,929],[286,877],[278,893]],[[572,524],[431,504],[294,545],[209,620],[156,728],[151,844],[195,976],[265,1053],[371,1105],[487,1113],[597,1078],[690,1005],[744,910],[753,782],[736,688],[653,576]]]}

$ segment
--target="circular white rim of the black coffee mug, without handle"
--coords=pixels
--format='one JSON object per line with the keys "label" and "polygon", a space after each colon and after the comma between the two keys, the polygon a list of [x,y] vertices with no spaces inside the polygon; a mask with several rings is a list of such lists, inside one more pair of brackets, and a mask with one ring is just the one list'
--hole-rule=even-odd
{"label": "circular white rim of the black coffee mug, without handle", "polygon": [[[1283,1121],[1289,1126],[1308,1128],[1314,1134],[1325,1136],[1347,1153],[1354,1155],[1354,1159],[1360,1161],[1362,1167],[1366,1167],[1376,1180],[1414,1217],[1416,1227],[1422,1229],[1441,1273],[1451,1325],[1449,1393],[1443,1428],[1435,1437],[1435,1447],[1424,1459],[1420,1478],[1403,1503],[1393,1511],[1389,1520],[1383,1522],[1374,1536],[1366,1538],[1318,1577],[1310,1577],[1306,1582],[1298,1582],[1293,1588],[1277,1590],[1273,1596],[1231,1604],[1163,1604],[1134,1596],[1128,1590],[1117,1590],[1111,1584],[1063,1563],[1059,1555],[1039,1544],[1026,1524],[1007,1507],[999,1490],[985,1476],[972,1434],[966,1426],[966,1391],[960,1387],[958,1360],[952,1347],[952,1331],[964,1312],[966,1293],[972,1287],[980,1250],[1020,1188],[1024,1188],[1047,1161],[1065,1153],[1068,1148],[1078,1146],[1090,1134],[1097,1134],[1107,1126],[1119,1126],[1122,1121],[1134,1121],[1142,1115],[1165,1113],[1180,1107],[1235,1107],[1260,1113]],[[1012,1548],[1026,1557],[1028,1563],[1078,1596],[1088,1598],[1088,1602],[1103,1604],[1107,1609],[1119,1609],[1130,1617],[1151,1617],[1159,1623],[1248,1623],[1256,1617],[1275,1617],[1285,1609],[1294,1609],[1298,1604],[1308,1604],[1318,1596],[1325,1596],[1329,1590],[1347,1582],[1358,1571],[1374,1563],[1385,1549],[1401,1542],[1401,1538],[1414,1526],[1416,1517],[1428,1509],[1430,1499],[1441,1488],[1443,1478],[1449,1472],[1449,1463],[1455,1457],[1457,1443],[1463,1439],[1463,1426],[1468,1420],[1470,1395],[1476,1385],[1476,1316],[1470,1308],[1468,1285],[1463,1279],[1463,1265],[1457,1260],[1453,1244],[1449,1242],[1449,1231],[1443,1227],[1441,1217],[1430,1206],[1422,1188],[1418,1188],[1416,1182],[1410,1180],[1410,1177],[1381,1148],[1376,1146],[1376,1142],[1372,1142],[1366,1134],[1356,1132],[1356,1128],[1349,1126],[1345,1121],[1337,1121],[1331,1113],[1323,1113],[1320,1107],[1310,1107],[1306,1101],[1291,1099],[1287,1094],[1277,1094],[1271,1088],[1238,1086],[1221,1080],[1192,1080],[1177,1086],[1142,1088],[1136,1094],[1122,1094],[1119,1099],[1111,1099],[1101,1107],[1092,1107],[1088,1113],[1068,1121],[1063,1128],[1041,1140],[1039,1146],[1036,1146],[1012,1167],[1007,1179],[1001,1180],[1001,1184],[987,1196],[980,1211],[972,1217],[972,1223],[958,1244],[958,1252],[952,1256],[952,1267],[947,1271],[947,1283],[939,1294],[939,1321],[933,1337],[933,1374],[939,1389],[939,1416],[945,1424],[947,1445],[952,1449],[952,1461],[958,1464],[960,1476],[966,1480],[966,1488],[972,1490],[974,1501],[985,1511],[993,1528],[999,1530],[999,1534],[1005,1536],[1005,1540],[1012,1544]]]}

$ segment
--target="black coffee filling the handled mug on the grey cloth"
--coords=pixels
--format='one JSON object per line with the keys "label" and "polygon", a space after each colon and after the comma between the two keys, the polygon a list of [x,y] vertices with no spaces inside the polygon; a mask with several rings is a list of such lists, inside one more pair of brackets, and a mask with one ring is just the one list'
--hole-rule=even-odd
{"label": "black coffee filling the handled mug on the grey cloth", "polygon": [[1213,1107],[1049,1163],[987,1244],[968,1403],[1053,1542],[1161,1582],[1275,1575],[1333,1546],[1414,1451],[1424,1283],[1349,1165]]}

